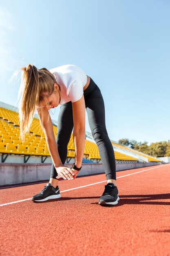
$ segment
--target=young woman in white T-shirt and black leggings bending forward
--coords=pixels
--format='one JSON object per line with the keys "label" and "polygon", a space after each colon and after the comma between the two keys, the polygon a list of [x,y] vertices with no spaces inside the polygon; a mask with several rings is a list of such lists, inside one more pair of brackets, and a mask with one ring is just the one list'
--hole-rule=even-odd
{"label": "young woman in white T-shirt and black leggings bending forward", "polygon": [[[100,89],[91,77],[75,65],[38,70],[34,65],[29,64],[22,68],[20,96],[21,138],[24,139],[24,134],[29,131],[36,109],[53,161],[49,183],[31,200],[42,202],[60,198],[59,179],[74,180],[80,171],[85,146],[86,108],[91,132],[97,143],[107,179],[99,204],[117,204],[119,196],[115,155],[106,130],[104,101]],[[61,106],[55,141],[49,109],[58,105]],[[72,130],[75,163],[72,168],[68,168],[65,162]]]}

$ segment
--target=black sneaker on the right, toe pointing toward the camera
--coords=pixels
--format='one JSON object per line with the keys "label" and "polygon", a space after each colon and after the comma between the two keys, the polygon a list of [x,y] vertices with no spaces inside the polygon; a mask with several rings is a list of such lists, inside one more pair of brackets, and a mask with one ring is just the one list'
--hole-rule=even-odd
{"label": "black sneaker on the right, toe pointing toward the camera", "polygon": [[113,183],[105,185],[103,195],[99,198],[99,204],[117,204],[119,201],[118,189]]}

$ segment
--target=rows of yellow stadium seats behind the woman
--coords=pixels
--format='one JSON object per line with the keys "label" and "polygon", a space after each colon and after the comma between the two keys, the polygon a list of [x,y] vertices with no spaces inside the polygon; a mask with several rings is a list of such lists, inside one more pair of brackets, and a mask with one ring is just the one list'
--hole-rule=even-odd
{"label": "rows of yellow stadium seats behind the woman", "polygon": [[[27,162],[31,156],[37,156],[42,157],[42,162],[44,162],[47,157],[50,157],[50,154],[39,119],[33,119],[30,132],[25,135],[26,141],[20,140],[19,125],[20,121],[17,112],[0,108],[0,154],[2,154],[2,162],[5,162],[8,155],[24,155],[24,162]],[[53,125],[53,130],[56,136],[57,126]],[[71,139],[68,143],[67,162],[74,157],[75,147],[73,135],[71,135]],[[95,142],[85,140],[84,159],[100,162],[99,150]],[[120,162],[139,161],[138,158],[130,157],[117,151],[115,151],[115,159]]]}

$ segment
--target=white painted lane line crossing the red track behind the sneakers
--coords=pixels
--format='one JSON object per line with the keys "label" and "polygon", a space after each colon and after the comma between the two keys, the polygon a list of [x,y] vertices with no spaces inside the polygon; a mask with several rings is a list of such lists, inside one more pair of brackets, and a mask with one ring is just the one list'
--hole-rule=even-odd
{"label": "white painted lane line crossing the red track behind the sneakers", "polygon": [[[137,173],[142,173],[142,172],[149,171],[149,170],[152,170],[152,169],[157,169],[157,168],[160,168],[160,167],[163,167],[163,165],[158,166],[158,167],[154,167],[154,168],[150,168],[150,169],[147,169],[147,170],[139,171],[139,172],[136,172],[136,173],[126,174],[126,175],[117,177],[116,179],[119,179],[119,178],[122,178],[122,177],[126,177],[126,176],[129,176],[129,175],[133,175],[133,174],[137,174]],[[79,186],[79,187],[73,188],[73,189],[66,189],[66,190],[60,191],[60,193],[64,193],[66,191],[71,191],[71,190],[74,190],[74,189],[81,189],[81,188],[84,188],[86,186],[93,186],[93,185],[96,185],[96,184],[99,184],[99,183],[102,183],[102,182],[106,182],[106,180],[100,181],[100,182],[96,182],[96,183],[92,183],[92,184],[88,184],[88,185],[85,185],[85,186]],[[26,199],[23,199],[23,200],[19,200],[19,201],[15,201],[15,202],[10,202],[10,203],[6,203],[6,204],[0,204],[0,206],[4,206],[4,205],[8,205],[8,204],[16,204],[16,203],[24,202],[24,201],[27,201],[27,200],[31,200],[31,198],[26,198]]]}

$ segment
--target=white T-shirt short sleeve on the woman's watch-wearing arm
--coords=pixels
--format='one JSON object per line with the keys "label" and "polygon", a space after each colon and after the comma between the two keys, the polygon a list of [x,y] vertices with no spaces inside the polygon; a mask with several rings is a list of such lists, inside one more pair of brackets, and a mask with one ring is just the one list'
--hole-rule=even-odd
{"label": "white T-shirt short sleeve on the woman's watch-wearing arm", "polygon": [[67,95],[71,99],[71,102],[78,101],[83,95],[83,84],[80,79],[74,79],[71,81],[67,88]]}

